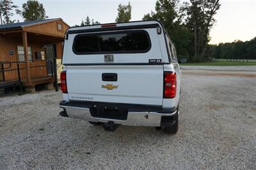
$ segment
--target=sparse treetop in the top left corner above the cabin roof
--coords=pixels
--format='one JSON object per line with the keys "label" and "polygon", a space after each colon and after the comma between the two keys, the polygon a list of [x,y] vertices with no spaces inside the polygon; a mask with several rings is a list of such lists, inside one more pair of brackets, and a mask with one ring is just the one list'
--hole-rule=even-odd
{"label": "sparse treetop in the top left corner above the cabin roof", "polygon": [[13,4],[12,0],[1,0],[0,1],[0,15],[1,15],[1,24],[10,24],[16,20],[11,20],[10,18],[14,15],[12,12],[15,10],[16,13],[20,13],[18,9],[19,6]]}

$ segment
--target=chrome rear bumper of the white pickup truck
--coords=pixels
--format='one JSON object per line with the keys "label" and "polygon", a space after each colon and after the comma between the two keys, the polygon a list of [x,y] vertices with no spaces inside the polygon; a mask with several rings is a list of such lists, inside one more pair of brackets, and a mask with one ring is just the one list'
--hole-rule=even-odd
{"label": "chrome rear bumper of the white pickup truck", "polygon": [[[160,127],[168,126],[163,125],[163,118],[166,116],[175,116],[179,111],[177,109],[163,109],[160,107],[148,107],[139,105],[125,105],[128,108],[127,119],[118,120],[113,118],[97,118],[93,117],[91,114],[92,107],[95,104],[90,102],[60,102],[60,107],[64,109],[64,114],[70,118],[77,118],[86,121],[99,121],[108,123],[113,121],[113,123],[121,125],[130,126],[149,126],[149,127]],[[109,104],[105,104],[109,105]],[[113,104],[111,104],[113,105]],[[118,104],[116,104],[118,105]],[[160,112],[159,112],[160,111]],[[63,116],[63,113],[62,115]],[[164,121],[164,123],[166,123]]]}

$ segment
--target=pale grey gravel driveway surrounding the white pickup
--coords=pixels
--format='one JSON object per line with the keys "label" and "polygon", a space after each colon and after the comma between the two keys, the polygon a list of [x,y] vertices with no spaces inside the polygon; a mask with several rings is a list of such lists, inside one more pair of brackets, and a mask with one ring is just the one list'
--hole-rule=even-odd
{"label": "pale grey gravel driveway surrounding the white pickup", "polygon": [[62,118],[60,92],[0,97],[0,169],[255,169],[256,72],[221,73],[183,70],[176,135]]}

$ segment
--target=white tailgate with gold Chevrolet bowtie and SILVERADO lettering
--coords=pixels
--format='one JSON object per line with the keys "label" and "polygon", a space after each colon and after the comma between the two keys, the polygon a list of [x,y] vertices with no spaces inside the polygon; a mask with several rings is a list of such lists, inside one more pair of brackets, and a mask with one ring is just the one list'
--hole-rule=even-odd
{"label": "white tailgate with gold Chevrolet bowtie and SILVERADO lettering", "polygon": [[67,88],[70,100],[162,105],[163,65],[67,66]]}

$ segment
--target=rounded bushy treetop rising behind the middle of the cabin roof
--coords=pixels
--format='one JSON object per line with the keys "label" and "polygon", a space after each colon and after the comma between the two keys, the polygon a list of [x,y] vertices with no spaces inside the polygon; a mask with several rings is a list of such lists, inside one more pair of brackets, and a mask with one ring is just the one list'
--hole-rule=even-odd
{"label": "rounded bushy treetop rising behind the middle of the cabin roof", "polygon": [[36,0],[28,0],[22,4],[21,15],[24,20],[44,20],[48,18],[45,14],[44,5]]}

